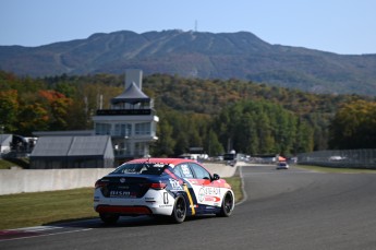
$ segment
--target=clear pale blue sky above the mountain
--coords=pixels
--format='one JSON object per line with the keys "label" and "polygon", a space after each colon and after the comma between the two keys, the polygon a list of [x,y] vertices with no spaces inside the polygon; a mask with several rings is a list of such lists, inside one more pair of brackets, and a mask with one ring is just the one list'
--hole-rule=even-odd
{"label": "clear pale blue sky above the mountain", "polygon": [[376,53],[376,0],[0,0],[0,46],[95,33],[251,32],[272,45]]}

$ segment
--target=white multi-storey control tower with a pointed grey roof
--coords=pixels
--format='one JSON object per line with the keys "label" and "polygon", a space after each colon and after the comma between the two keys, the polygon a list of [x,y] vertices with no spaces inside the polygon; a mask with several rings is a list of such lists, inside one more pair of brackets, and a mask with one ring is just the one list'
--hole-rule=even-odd
{"label": "white multi-storey control tower with a pointed grey roof", "polygon": [[98,109],[93,116],[96,135],[111,135],[114,157],[119,162],[149,155],[159,118],[154,102],[142,92],[141,70],[125,71],[124,92],[111,99],[110,109]]}

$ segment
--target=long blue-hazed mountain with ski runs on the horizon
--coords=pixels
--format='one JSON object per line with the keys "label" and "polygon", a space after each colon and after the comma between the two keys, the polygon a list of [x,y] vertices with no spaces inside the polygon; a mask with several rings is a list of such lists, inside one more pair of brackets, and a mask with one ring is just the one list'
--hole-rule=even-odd
{"label": "long blue-hazed mountain with ski runs on the horizon", "polygon": [[376,96],[376,55],[270,45],[247,32],[121,31],[39,47],[0,46],[0,69],[19,75],[118,74],[129,68]]}

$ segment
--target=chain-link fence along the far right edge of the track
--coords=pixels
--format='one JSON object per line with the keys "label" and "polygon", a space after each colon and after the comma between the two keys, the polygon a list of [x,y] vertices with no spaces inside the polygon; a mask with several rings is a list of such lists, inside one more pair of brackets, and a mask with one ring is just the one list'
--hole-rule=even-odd
{"label": "chain-link fence along the far right edge of the track", "polygon": [[317,151],[298,155],[298,164],[376,169],[376,150]]}

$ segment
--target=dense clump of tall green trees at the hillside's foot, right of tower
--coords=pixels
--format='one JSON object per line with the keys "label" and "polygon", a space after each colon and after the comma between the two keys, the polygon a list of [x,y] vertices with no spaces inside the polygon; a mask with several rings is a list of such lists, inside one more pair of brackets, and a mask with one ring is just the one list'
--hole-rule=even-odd
{"label": "dense clump of tall green trees at the hillside's foot, right of tower", "polygon": [[[281,106],[265,100],[238,102],[222,109],[215,128],[222,145],[230,139],[236,152],[246,154],[296,153],[298,116]],[[299,148],[311,148],[311,140]]]}

